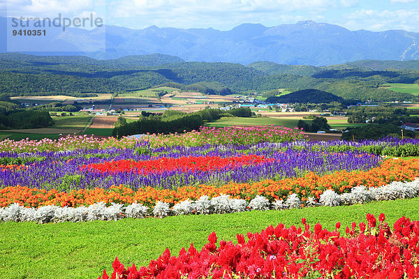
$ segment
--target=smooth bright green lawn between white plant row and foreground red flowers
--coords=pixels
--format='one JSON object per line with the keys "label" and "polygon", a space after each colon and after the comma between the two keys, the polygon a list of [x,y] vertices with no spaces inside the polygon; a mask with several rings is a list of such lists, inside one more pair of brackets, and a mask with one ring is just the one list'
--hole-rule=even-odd
{"label": "smooth bright green lawn between white plant row and foreground red flowers", "polygon": [[[236,241],[236,234],[259,232],[268,225],[300,225],[301,218],[329,230],[341,222],[340,232],[352,222],[366,222],[367,213],[385,213],[393,224],[402,216],[419,220],[419,198],[353,206],[318,207],[287,211],[252,211],[164,219],[126,219],[87,223],[0,224],[0,278],[98,278],[112,271],[117,256],[125,266],[148,264],[163,250],[178,255],[193,242],[200,249],[215,231],[219,240]],[[110,273],[110,272],[109,272]]]}

